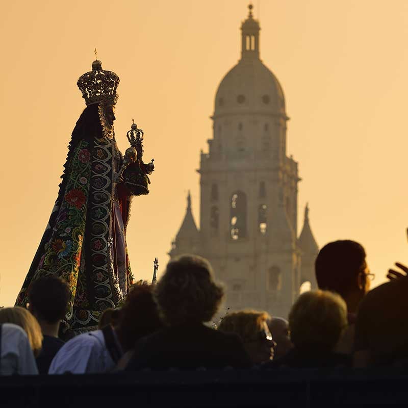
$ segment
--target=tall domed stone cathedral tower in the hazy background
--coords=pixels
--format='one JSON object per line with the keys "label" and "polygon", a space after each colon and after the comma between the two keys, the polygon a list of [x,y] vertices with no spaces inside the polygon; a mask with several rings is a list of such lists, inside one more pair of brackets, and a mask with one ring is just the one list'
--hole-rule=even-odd
{"label": "tall domed stone cathedral tower in the hazy background", "polygon": [[[209,259],[226,285],[226,307],[287,316],[302,280],[314,276],[317,244],[308,219],[304,248],[298,245],[300,179],[297,162],[286,153],[285,97],[260,59],[260,26],[248,8],[241,59],[218,87],[213,138],[208,153],[201,153],[199,231],[188,198],[170,256],[192,252]],[[302,256],[308,258],[303,275]]]}

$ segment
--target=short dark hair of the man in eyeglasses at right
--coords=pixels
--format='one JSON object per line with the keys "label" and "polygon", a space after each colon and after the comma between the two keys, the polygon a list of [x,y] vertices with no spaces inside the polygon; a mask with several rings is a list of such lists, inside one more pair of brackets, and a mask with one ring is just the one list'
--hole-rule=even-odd
{"label": "short dark hair of the man in eyeglasses at right", "polygon": [[329,242],[315,262],[319,289],[345,296],[356,282],[356,276],[366,266],[366,251],[358,242],[341,240]]}

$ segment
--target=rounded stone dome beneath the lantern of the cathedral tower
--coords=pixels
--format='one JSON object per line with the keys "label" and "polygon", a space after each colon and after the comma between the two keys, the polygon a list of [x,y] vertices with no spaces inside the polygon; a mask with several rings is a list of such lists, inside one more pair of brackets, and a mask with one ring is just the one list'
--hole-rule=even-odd
{"label": "rounded stone dome beneath the lantern of the cathedral tower", "polygon": [[246,112],[286,118],[281,84],[259,58],[241,59],[222,79],[215,96],[214,117]]}

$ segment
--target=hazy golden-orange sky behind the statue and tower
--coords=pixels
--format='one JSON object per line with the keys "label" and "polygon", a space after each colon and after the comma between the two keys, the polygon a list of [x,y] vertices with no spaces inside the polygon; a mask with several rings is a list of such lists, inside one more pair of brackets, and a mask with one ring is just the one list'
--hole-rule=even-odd
{"label": "hazy golden-orange sky behind the statue and tower", "polygon": [[[132,117],[155,158],[150,194],[136,197],[127,232],[136,278],[160,270],[192,192],[198,222],[199,150],[212,137],[214,96],[239,59],[246,0],[1,2],[3,214],[0,304],[12,305],[57,197],[75,121],[77,79],[97,47],[120,77],[116,139]],[[310,203],[320,246],[350,238],[367,250],[375,283],[408,263],[408,2],[254,1],[261,59],[281,83],[288,155],[299,162],[299,227]],[[298,231],[299,233],[300,231]],[[272,311],[273,313],[273,311]]]}

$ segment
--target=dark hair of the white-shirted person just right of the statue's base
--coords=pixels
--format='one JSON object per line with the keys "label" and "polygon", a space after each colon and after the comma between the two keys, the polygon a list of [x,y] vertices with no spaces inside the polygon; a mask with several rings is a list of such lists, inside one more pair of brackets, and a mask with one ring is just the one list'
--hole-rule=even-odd
{"label": "dark hair of the white-shirted person just right of the statue's base", "polygon": [[[113,312],[115,312],[115,309]],[[133,285],[120,309],[116,333],[124,351],[163,327],[150,285]]]}

